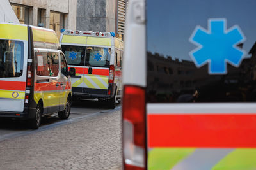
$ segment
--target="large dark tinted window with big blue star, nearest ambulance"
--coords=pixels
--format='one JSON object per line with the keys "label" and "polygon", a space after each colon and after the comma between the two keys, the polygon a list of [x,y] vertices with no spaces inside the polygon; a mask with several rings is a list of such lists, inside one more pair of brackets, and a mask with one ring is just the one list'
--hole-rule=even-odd
{"label": "large dark tinted window with big blue star, nearest ambulance", "polygon": [[148,0],[148,101],[255,101],[255,5]]}

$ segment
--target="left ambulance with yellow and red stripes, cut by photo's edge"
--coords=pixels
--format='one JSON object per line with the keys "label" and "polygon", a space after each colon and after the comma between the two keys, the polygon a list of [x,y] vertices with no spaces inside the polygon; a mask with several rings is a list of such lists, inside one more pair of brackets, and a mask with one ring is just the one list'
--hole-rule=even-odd
{"label": "left ambulance with yellow and red stripes, cut by photo's edge", "polygon": [[71,78],[51,29],[0,24],[0,117],[28,120],[38,129],[43,116],[70,115]]}

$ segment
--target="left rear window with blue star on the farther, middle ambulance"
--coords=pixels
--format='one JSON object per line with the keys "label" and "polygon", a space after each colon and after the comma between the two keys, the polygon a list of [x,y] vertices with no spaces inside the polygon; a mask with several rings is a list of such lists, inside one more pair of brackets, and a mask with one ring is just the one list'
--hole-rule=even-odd
{"label": "left rear window with blue star on the farther, middle ambulance", "polygon": [[85,46],[62,45],[68,65],[84,66]]}

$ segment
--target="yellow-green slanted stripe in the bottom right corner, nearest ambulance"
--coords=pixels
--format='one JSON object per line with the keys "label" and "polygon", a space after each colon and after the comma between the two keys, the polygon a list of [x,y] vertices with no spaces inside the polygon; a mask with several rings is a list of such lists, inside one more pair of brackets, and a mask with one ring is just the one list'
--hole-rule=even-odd
{"label": "yellow-green slanted stripe in the bottom right corner, nearest ambulance", "polygon": [[256,169],[256,148],[237,148],[212,167],[212,170]]}

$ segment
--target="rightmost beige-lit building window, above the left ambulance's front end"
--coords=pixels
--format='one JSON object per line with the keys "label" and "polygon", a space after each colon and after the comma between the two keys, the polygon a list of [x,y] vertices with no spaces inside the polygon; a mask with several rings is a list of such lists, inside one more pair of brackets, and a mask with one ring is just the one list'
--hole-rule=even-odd
{"label": "rightmost beige-lit building window, above the left ambulance's front end", "polygon": [[65,20],[64,20],[65,14],[58,13],[55,11],[50,12],[50,29],[53,29],[58,38],[60,38],[60,30],[64,28]]}

